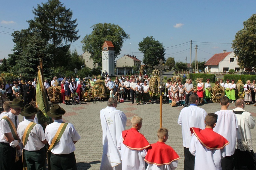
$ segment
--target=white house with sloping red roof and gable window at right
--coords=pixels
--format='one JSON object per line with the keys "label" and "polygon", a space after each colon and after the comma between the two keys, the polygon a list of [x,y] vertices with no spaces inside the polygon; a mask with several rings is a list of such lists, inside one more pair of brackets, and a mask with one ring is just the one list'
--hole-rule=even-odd
{"label": "white house with sloping red roof and gable window at right", "polygon": [[215,54],[204,64],[204,71],[210,73],[228,72],[230,69],[236,72],[244,71],[238,65],[234,52],[223,51],[223,53]]}

